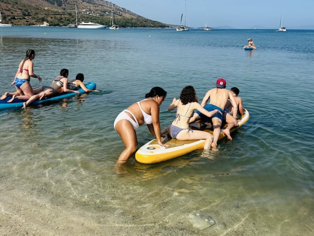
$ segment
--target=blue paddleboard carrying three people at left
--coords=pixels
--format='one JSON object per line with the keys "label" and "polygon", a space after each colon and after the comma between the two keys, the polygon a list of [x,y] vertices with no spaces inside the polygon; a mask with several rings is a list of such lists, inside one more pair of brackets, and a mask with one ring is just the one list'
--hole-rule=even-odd
{"label": "blue paddleboard carrying three people at left", "polygon": [[[88,82],[88,83],[84,83],[84,85],[88,88],[88,89],[95,89],[96,88],[96,84],[94,82]],[[78,89],[78,91],[82,93],[86,93],[82,88]],[[33,102],[31,105],[36,105],[36,104],[41,104],[47,101],[56,101],[62,98],[69,98],[72,97],[74,95],[78,95],[77,93],[62,93],[58,96],[55,97],[51,97],[51,98],[43,98],[42,100],[36,100],[35,102]],[[10,100],[11,97],[8,97],[4,100],[0,100],[0,110],[3,109],[7,109],[7,108],[13,108],[13,107],[22,107],[23,103],[25,102],[24,100],[20,100],[20,99],[15,99],[12,103],[8,103],[8,100]]]}

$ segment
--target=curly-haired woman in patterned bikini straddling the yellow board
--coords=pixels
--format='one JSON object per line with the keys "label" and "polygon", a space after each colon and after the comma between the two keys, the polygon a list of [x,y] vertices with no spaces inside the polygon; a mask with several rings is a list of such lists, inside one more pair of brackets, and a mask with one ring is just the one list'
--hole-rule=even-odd
{"label": "curly-haired woman in patterned bikini straddling the yellow board", "polygon": [[168,133],[172,138],[178,140],[197,140],[205,139],[204,149],[209,149],[213,142],[210,133],[189,128],[189,120],[193,116],[194,110],[199,110],[203,115],[211,117],[216,113],[222,115],[218,109],[212,111],[205,110],[199,103],[194,87],[184,87],[180,93],[180,98],[173,98],[168,110],[171,111],[177,107],[176,119],[170,126],[161,131],[161,134]]}

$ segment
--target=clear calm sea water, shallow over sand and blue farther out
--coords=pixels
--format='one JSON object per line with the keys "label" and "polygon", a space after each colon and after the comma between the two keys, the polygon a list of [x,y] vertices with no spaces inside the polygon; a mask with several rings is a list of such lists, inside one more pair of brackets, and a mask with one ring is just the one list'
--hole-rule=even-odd
{"label": "clear calm sea water, shallow over sand and blue farther out", "polygon": [[[250,37],[257,50],[245,51]],[[75,234],[47,231],[62,217],[70,226],[84,222],[87,235],[314,234],[314,49],[304,42],[313,45],[314,31],[0,29],[0,93],[14,91],[29,48],[42,85],[68,68],[70,79],[84,73],[101,90],[0,111],[2,219],[43,209],[29,219],[36,235]],[[113,122],[121,110],[163,87],[165,127],[183,87],[194,86],[201,100],[219,77],[240,89],[251,115],[232,141],[221,140],[210,156],[199,150],[154,165],[133,158],[116,174],[124,145]],[[145,126],[137,137],[139,146],[153,138]],[[5,224],[0,232],[12,233]]]}

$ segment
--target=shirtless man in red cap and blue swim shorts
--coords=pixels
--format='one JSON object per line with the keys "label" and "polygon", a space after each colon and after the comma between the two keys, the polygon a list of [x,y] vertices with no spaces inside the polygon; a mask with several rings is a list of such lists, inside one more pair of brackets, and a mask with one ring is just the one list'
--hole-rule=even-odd
{"label": "shirtless man in red cap and blue swim shorts", "polygon": [[[203,98],[201,106],[203,106],[204,109],[208,111],[218,109],[219,111],[221,111],[221,113],[224,113],[224,108],[228,102],[228,99],[230,99],[230,103],[232,104],[233,109],[238,110],[238,106],[236,104],[235,98],[233,97],[233,94],[231,93],[230,90],[225,89],[225,87],[226,87],[225,79],[219,78],[216,82],[216,88],[209,90],[205,94],[205,97]],[[210,98],[210,102],[209,104],[207,104],[209,98]],[[235,114],[233,114],[233,117],[236,118],[236,112],[234,113]],[[200,113],[199,111],[197,111],[196,113],[194,113],[193,117],[191,118],[190,123],[195,122],[197,120],[202,120],[203,122],[208,122],[211,120],[213,122],[214,140],[213,140],[213,143],[211,144],[211,147],[217,148],[217,141],[220,136],[220,127],[223,120],[223,116],[220,113],[216,113],[215,115],[211,117],[207,117],[203,115],[202,113]],[[224,129],[223,133],[225,132],[228,132],[228,130],[226,131]],[[228,136],[230,137],[230,132],[228,134],[225,133],[225,135],[227,137]]]}

